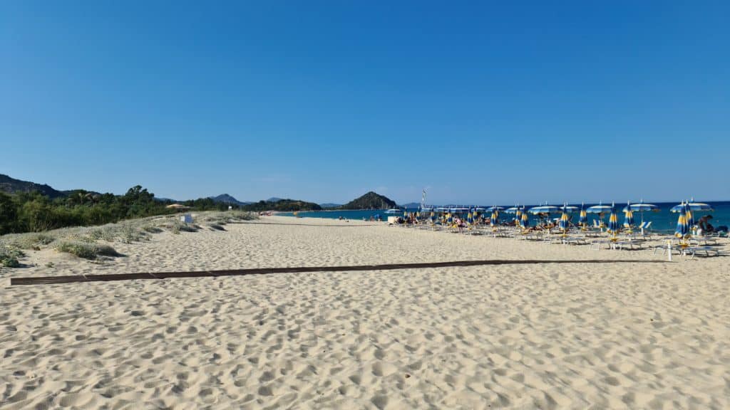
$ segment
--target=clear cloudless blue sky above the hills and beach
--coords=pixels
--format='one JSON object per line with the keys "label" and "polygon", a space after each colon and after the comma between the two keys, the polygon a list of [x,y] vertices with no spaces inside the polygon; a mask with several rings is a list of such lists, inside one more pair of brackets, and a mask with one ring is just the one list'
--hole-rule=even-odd
{"label": "clear cloudless blue sky above the hills and beach", "polygon": [[727,1],[2,1],[0,173],[404,203],[730,199]]}

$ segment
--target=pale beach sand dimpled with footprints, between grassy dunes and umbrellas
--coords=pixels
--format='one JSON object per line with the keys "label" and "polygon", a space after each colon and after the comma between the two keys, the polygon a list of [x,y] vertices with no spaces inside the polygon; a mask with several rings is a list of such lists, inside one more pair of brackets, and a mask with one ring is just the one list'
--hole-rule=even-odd
{"label": "pale beach sand dimpled with footprints, between grassy dunes and umbrellas", "polygon": [[[288,217],[226,230],[115,244],[126,256],[104,263],[31,252],[34,266],[1,271],[0,407],[730,407],[730,258],[640,263],[664,258]],[[577,262],[7,280],[481,259]],[[580,262],[596,259],[611,262]]]}

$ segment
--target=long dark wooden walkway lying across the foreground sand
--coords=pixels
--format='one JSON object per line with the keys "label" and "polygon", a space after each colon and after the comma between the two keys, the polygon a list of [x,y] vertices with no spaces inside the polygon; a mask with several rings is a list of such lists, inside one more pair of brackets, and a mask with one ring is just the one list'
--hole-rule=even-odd
{"label": "long dark wooden walkway lying across the foreground sand", "polygon": [[391,271],[396,269],[450,268],[454,266],[529,265],[541,263],[664,263],[663,260],[455,260],[450,262],[391,263],[387,265],[301,266],[287,268],[249,268],[223,271],[142,272],[137,274],[99,274],[11,278],[10,285],[53,285],[74,282],[112,282],[139,279],[175,279],[218,276],[290,274],[302,272]]}

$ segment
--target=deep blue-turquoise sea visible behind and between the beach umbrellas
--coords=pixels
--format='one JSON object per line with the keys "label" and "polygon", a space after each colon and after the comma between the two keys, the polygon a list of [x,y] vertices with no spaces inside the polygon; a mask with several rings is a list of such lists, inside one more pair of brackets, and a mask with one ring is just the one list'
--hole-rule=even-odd
{"label": "deep blue-turquoise sea visible behind and between the beach umbrellas", "polygon": [[[605,203],[604,203],[605,204]],[[634,223],[637,225],[641,223],[642,216],[643,220],[645,221],[652,221],[651,228],[654,231],[659,232],[672,232],[675,230],[677,226],[677,217],[678,214],[669,212],[669,209],[672,208],[672,206],[677,205],[676,202],[652,202],[651,204],[654,204],[659,207],[658,212],[644,212],[642,215],[639,212],[634,212]],[[705,204],[710,204],[712,206],[712,212],[694,212],[694,219],[699,220],[700,217],[710,214],[712,215],[712,220],[710,220],[710,223],[717,228],[721,225],[730,226],[730,201],[712,201],[712,202],[705,202]],[[569,204],[580,207],[580,204]],[[588,208],[588,206],[592,206],[596,204],[585,204],[585,208]],[[491,205],[490,205],[491,206]],[[502,205],[505,209],[510,208],[510,206],[514,205]],[[532,205],[537,206],[537,205]],[[531,205],[527,205],[526,209],[530,209],[532,207]],[[558,205],[556,205],[558,206]],[[623,224],[623,212],[621,210],[623,209],[624,204],[616,204],[616,211],[618,212],[618,222]],[[484,208],[488,208],[489,206],[483,206]],[[406,212],[416,212],[418,209],[406,209]],[[377,215],[380,215],[380,217],[383,217],[383,220],[388,219],[388,214],[385,214],[385,209],[374,209],[374,210],[358,210],[358,211],[339,211],[339,210],[332,210],[332,211],[310,211],[310,212],[297,212],[296,215],[294,215],[293,212],[283,212],[280,215],[294,217],[310,217],[310,218],[328,218],[328,219],[339,219],[339,217],[343,217],[348,220],[369,220],[370,217],[376,217]],[[499,214],[499,220],[512,220],[514,215],[512,214],[506,214],[502,212]],[[560,214],[554,214],[555,218],[560,217]],[[608,223],[608,214],[605,214],[603,217],[603,220],[605,223]],[[588,214],[588,222],[592,223],[594,219],[598,219],[599,215],[596,214]],[[575,212],[571,214],[571,220],[573,222],[576,222],[578,220],[578,213]],[[534,215],[530,215],[530,224],[535,225],[539,221],[539,217],[536,217]]]}

